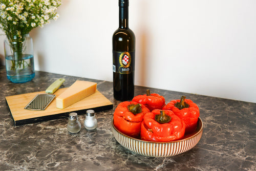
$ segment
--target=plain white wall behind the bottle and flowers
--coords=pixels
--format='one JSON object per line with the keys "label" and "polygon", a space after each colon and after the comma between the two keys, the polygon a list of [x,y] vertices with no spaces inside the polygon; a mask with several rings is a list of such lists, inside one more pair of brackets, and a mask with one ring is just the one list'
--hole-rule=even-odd
{"label": "plain white wall behind the bottle and flowers", "polygon": [[[118,0],[62,0],[58,13],[30,33],[35,69],[112,81]],[[256,102],[255,0],[130,0],[129,17],[136,85]]]}

